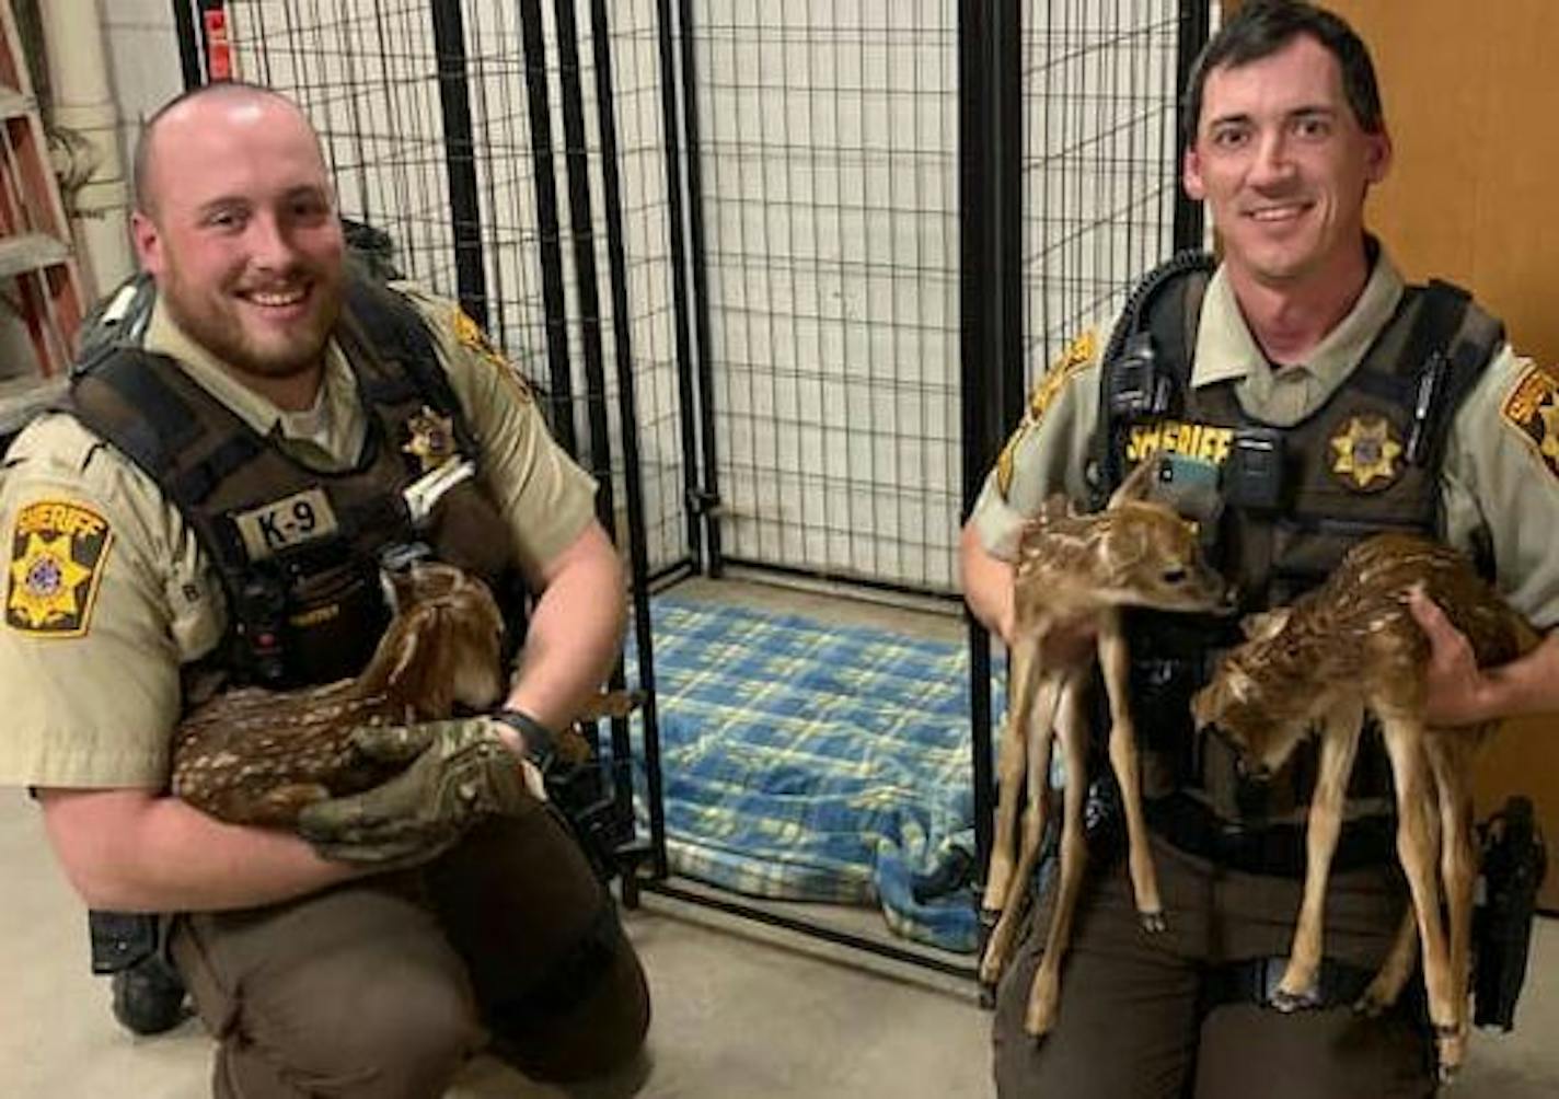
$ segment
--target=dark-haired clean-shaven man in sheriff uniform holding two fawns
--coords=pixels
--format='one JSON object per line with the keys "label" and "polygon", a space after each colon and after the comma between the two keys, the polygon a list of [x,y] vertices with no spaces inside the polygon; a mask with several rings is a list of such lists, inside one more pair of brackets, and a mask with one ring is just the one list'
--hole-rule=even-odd
{"label": "dark-haired clean-shaven man in sheriff uniform holding two fawns", "polygon": [[[1012,557],[1051,493],[1102,504],[1137,463],[1174,457],[1219,483],[1196,518],[1246,610],[1320,581],[1359,538],[1420,530],[1465,550],[1540,630],[1559,624],[1559,371],[1445,284],[1405,285],[1364,231],[1391,165],[1373,67],[1341,19],[1255,0],[1199,59],[1183,182],[1207,203],[1222,262],[1151,274],[1108,330],[1051,368],[963,530],[965,595],[1010,639]],[[1191,500],[1197,494],[1185,499]],[[1202,494],[1205,496],[1205,494]],[[1433,603],[1430,717],[1465,723],[1559,709],[1559,638],[1479,670]],[[1431,1049],[1411,1010],[1355,1016],[1352,999],[1403,913],[1388,765],[1361,747],[1327,896],[1317,1004],[1267,1005],[1299,912],[1313,770],[1269,789],[1197,739],[1188,701],[1233,625],[1130,620],[1132,706],[1169,929],[1141,929],[1122,867],[1098,871],[1066,959],[1055,1029],[1023,1030],[1041,935],[999,990],[1001,1096],[1205,1099],[1422,1096]],[[1073,642],[1079,642],[1074,638]],[[1037,906],[1037,926],[1049,904]]]}

